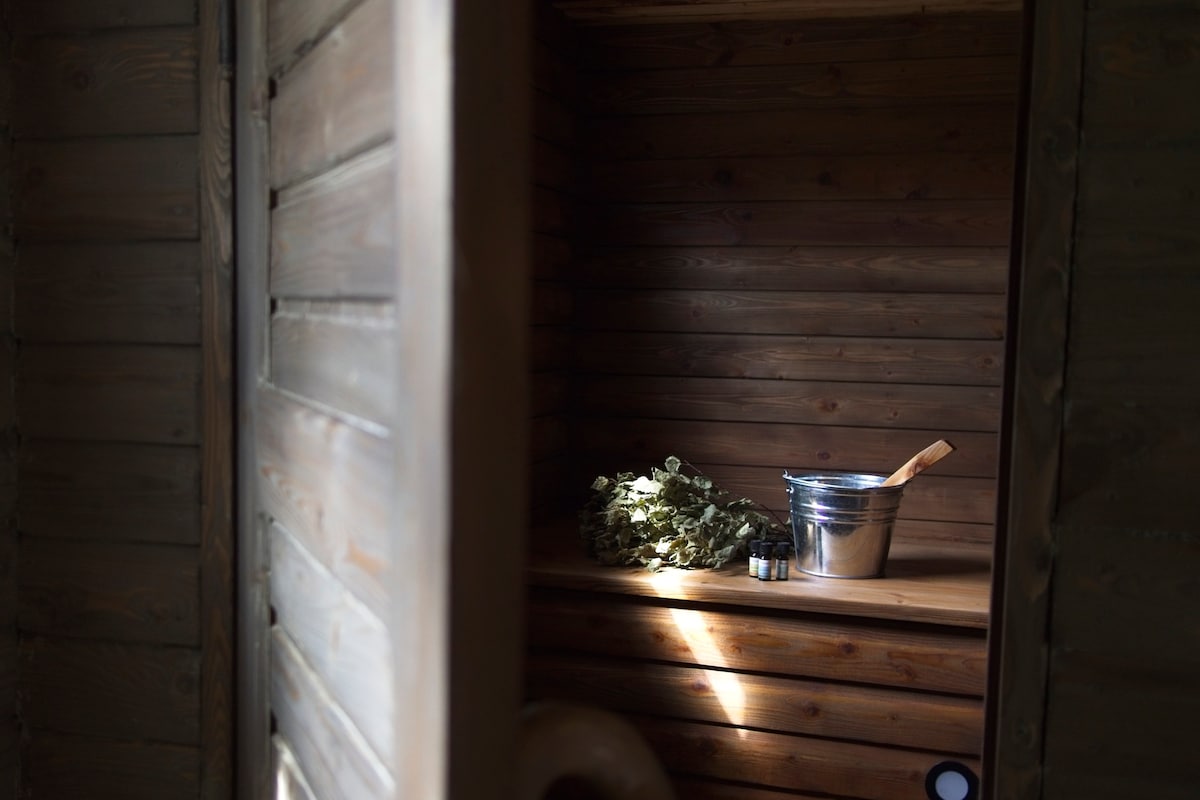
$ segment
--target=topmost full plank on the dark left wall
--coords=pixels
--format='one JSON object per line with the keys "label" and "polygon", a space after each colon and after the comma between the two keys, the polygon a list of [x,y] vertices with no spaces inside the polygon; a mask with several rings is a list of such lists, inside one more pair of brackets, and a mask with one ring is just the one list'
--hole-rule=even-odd
{"label": "topmost full plank on the dark left wall", "polygon": [[18,37],[17,137],[194,133],[197,31]]}

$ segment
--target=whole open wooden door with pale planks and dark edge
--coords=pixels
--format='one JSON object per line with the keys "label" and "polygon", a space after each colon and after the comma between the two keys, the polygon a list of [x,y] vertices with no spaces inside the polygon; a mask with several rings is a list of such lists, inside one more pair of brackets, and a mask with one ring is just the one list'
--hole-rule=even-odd
{"label": "whole open wooden door with pale planks and dark edge", "polygon": [[241,795],[504,796],[522,14],[247,0],[238,30]]}

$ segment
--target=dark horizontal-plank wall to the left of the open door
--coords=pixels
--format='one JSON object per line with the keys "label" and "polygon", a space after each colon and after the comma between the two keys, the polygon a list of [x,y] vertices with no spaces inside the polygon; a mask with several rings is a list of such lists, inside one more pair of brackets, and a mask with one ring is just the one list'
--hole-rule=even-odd
{"label": "dark horizontal-plank wall to the left of the open door", "polygon": [[22,792],[227,796],[217,4],[11,11]]}

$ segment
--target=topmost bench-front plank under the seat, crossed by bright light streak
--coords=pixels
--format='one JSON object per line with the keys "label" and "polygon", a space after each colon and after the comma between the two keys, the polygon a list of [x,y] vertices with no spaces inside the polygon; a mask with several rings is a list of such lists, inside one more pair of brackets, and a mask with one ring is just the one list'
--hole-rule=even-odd
{"label": "topmost bench-front plank under the seat, crossed by bright light streak", "polygon": [[[758,588],[745,578],[744,565],[736,572],[739,584]],[[799,576],[794,583],[796,591],[804,589]],[[653,595],[649,587],[643,591]],[[583,593],[535,591],[530,607],[529,642],[536,648],[803,678],[853,675],[881,686],[983,694],[985,644],[966,630],[893,628],[850,616],[774,618],[754,609],[665,608],[643,599]]]}

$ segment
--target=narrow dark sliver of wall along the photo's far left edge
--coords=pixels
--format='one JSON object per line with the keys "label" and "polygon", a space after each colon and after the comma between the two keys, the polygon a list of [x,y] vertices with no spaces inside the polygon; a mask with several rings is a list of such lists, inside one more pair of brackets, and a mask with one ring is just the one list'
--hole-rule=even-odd
{"label": "narrow dark sliver of wall along the photo's far left edge", "polygon": [[17,724],[17,409],[12,282],[12,40],[0,2],[0,798],[16,796]]}

